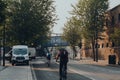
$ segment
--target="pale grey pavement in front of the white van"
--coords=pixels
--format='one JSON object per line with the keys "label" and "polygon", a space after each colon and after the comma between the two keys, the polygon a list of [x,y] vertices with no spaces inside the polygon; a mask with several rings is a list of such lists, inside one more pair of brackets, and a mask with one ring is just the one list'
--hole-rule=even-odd
{"label": "pale grey pavement in front of the white van", "polygon": [[0,66],[0,80],[33,80],[30,66]]}

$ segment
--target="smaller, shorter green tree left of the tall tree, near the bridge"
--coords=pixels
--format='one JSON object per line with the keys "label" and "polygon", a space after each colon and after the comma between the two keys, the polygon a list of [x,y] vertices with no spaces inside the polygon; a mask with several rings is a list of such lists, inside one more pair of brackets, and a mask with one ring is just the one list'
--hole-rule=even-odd
{"label": "smaller, shorter green tree left of the tall tree, near the bridge", "polygon": [[63,28],[63,38],[70,44],[73,49],[73,59],[77,56],[75,46],[81,42],[81,36],[79,32],[79,27],[74,20],[75,17],[71,17]]}

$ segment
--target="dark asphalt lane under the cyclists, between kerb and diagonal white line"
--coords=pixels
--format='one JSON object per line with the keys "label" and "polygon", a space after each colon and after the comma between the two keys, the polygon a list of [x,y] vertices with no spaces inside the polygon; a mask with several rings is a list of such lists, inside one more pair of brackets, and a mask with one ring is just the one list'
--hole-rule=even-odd
{"label": "dark asphalt lane under the cyclists, between kerb and diagonal white line", "polygon": [[[50,67],[46,64],[45,58],[37,58],[31,61],[32,73],[34,80],[59,80],[59,64],[52,60]],[[92,80],[83,75],[69,70],[67,80]]]}

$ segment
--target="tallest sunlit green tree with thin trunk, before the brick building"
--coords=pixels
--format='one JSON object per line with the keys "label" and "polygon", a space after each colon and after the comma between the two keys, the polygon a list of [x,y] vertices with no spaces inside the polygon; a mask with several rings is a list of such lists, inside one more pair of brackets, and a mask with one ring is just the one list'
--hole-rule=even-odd
{"label": "tallest sunlit green tree with thin trunk, before the brick building", "polygon": [[[73,11],[71,12],[71,14],[76,17],[75,19],[77,19],[77,25],[79,25],[81,35],[85,41],[89,44],[92,43],[94,60],[94,47],[98,44],[99,33],[103,31],[104,14],[107,9],[108,0],[79,0],[78,4],[73,6]],[[98,52],[96,47],[96,61],[97,60]]]}

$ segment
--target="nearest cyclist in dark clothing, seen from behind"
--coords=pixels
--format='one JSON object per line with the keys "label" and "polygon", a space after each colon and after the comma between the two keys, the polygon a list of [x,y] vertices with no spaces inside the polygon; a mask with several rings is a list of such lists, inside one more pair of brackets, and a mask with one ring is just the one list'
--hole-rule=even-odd
{"label": "nearest cyclist in dark clothing, seen from behind", "polygon": [[56,56],[56,62],[60,57],[60,64],[59,64],[59,75],[60,80],[62,80],[62,68],[65,68],[65,78],[67,78],[67,63],[68,63],[68,52],[64,48],[59,49],[58,54]]}

